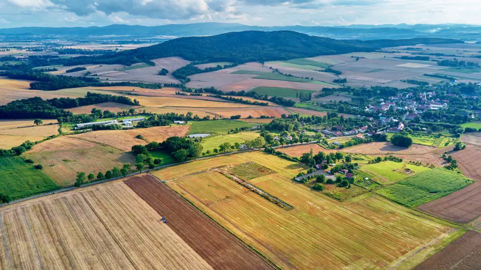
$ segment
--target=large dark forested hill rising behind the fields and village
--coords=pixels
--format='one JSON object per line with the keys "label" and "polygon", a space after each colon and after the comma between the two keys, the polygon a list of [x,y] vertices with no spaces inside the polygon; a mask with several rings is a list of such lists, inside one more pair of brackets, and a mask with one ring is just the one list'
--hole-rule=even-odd
{"label": "large dark forested hill rising behind the fields and village", "polygon": [[116,54],[95,57],[80,56],[72,58],[65,64],[132,64],[169,56],[180,56],[191,61],[244,63],[249,61],[286,60],[355,51],[374,51],[386,46],[415,45],[419,43],[463,43],[463,41],[429,37],[369,41],[337,40],[294,31],[241,31],[211,36],[180,37],[160,44],[122,51]]}

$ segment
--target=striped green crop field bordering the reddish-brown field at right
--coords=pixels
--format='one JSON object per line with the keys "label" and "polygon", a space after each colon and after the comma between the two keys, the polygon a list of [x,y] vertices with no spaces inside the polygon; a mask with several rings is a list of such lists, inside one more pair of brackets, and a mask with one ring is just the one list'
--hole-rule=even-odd
{"label": "striped green crop field bordering the reddish-brown field at right", "polygon": [[445,168],[434,168],[408,177],[377,193],[410,207],[437,199],[472,183],[462,174]]}

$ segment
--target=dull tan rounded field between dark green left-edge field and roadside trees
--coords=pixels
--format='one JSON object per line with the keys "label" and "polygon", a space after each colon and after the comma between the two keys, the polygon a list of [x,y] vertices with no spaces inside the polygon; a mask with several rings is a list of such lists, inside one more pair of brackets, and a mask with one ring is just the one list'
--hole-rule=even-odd
{"label": "dull tan rounded field between dark green left-edge field and roadside trees", "polygon": [[69,186],[75,182],[77,172],[97,175],[99,171],[134,164],[134,156],[110,146],[95,142],[61,136],[34,145],[25,156],[44,166],[44,171],[59,185]]}

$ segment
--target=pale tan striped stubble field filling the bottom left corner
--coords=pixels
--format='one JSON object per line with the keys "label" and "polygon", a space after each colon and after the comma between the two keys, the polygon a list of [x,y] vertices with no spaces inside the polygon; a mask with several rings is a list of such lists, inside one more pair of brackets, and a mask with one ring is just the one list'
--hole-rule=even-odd
{"label": "pale tan striped stubble field filling the bottom left corner", "polygon": [[211,269],[121,181],[0,210],[3,269]]}

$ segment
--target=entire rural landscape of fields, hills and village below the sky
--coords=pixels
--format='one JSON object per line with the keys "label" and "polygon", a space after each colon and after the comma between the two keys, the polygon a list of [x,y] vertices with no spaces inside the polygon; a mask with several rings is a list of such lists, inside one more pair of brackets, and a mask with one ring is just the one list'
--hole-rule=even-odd
{"label": "entire rural landscape of fields, hills and village below the sky", "polygon": [[0,268],[480,268],[481,27],[119,25],[0,28]]}

